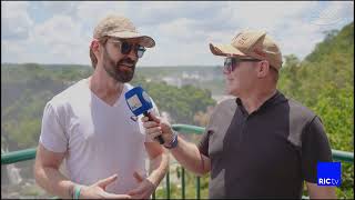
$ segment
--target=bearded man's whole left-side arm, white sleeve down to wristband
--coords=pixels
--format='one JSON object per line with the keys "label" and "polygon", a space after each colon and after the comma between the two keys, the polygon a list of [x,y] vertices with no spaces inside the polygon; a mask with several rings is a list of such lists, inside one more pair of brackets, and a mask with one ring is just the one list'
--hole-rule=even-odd
{"label": "bearded man's whole left-side arm, white sleeve down to wristband", "polygon": [[[67,151],[68,139],[55,107],[48,102],[44,107],[40,142],[37,148],[34,178],[40,187],[62,198],[72,198],[73,182],[59,171]],[[44,148],[51,147],[50,151]]]}

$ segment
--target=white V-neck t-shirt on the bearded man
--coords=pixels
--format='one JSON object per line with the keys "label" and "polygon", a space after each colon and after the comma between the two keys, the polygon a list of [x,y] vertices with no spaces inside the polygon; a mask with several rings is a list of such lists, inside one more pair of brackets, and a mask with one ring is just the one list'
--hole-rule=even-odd
{"label": "white V-neck t-shirt on the bearded man", "polygon": [[[90,186],[118,173],[106,187],[109,192],[126,193],[138,186],[133,172],[146,176],[145,134],[140,118],[131,119],[124,93],[114,106],[98,98],[83,79],[53,97],[45,106],[40,142],[54,152],[67,152],[65,169],[77,183]],[[153,110],[158,109],[153,102]]]}

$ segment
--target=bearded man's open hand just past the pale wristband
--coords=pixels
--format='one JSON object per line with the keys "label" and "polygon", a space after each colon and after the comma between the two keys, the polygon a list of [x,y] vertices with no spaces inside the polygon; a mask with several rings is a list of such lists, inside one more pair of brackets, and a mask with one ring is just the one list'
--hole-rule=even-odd
{"label": "bearded man's open hand just past the pale wristband", "polygon": [[106,186],[114,182],[118,179],[118,174],[113,174],[109,178],[101,179],[92,186],[83,186],[80,191],[80,199],[131,199],[128,194],[115,194],[105,191]]}

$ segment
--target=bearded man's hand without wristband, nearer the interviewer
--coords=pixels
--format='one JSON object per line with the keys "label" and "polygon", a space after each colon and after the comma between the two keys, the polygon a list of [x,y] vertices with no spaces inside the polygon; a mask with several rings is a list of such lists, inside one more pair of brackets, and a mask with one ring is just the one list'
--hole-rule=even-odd
{"label": "bearded man's hand without wristband, nearer the interviewer", "polygon": [[133,173],[133,177],[139,182],[139,186],[129,191],[128,194],[133,199],[149,199],[155,190],[154,183],[151,180],[143,178],[136,171]]}

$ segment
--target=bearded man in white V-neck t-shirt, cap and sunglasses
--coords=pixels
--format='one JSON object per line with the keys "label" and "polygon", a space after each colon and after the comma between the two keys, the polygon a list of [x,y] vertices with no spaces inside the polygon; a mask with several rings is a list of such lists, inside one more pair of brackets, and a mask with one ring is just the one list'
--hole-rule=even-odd
{"label": "bearded man in white V-neck t-shirt, cap and sunglasses", "polygon": [[[67,199],[143,199],[154,192],[169,157],[146,137],[124,99],[139,58],[154,46],[124,17],[99,22],[90,46],[93,74],[45,104],[34,164],[39,186]],[[155,104],[152,111],[158,114]]]}

